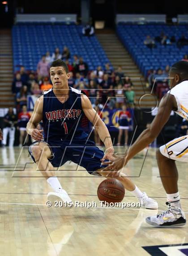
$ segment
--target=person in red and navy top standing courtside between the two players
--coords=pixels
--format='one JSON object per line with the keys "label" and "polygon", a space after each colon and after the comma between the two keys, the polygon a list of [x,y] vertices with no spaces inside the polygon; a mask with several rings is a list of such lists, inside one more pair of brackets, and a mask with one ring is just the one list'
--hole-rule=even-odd
{"label": "person in red and navy top standing courtside between the two players", "polygon": [[118,122],[119,122],[119,135],[118,135],[118,144],[117,146],[120,146],[121,143],[121,137],[125,135],[125,145],[128,144],[128,129],[129,125],[128,122],[131,119],[131,113],[127,110],[127,107],[125,105],[122,106],[122,111],[119,112],[118,116]]}

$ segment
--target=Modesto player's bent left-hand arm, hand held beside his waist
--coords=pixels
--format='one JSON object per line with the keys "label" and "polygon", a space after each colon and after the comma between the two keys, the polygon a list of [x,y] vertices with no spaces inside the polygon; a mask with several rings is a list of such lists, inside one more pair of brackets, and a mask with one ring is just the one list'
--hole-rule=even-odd
{"label": "Modesto player's bent left-hand arm, hand held beside his waist", "polygon": [[36,129],[38,123],[43,119],[43,96],[37,99],[34,104],[34,111],[30,121],[27,123],[27,133],[37,141],[43,140],[43,130]]}

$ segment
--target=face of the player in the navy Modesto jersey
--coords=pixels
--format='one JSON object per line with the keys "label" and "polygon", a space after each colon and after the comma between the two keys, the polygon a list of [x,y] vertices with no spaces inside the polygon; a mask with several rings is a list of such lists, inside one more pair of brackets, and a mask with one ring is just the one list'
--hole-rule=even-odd
{"label": "face of the player in the navy Modesto jersey", "polygon": [[64,67],[51,67],[50,77],[53,88],[60,89],[68,85],[70,74],[65,72]]}

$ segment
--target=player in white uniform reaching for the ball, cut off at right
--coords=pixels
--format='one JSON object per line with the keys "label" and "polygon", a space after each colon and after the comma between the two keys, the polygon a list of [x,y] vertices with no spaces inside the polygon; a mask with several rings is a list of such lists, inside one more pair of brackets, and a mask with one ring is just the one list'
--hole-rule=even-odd
{"label": "player in white uniform reaching for the ball, cut off at right", "polygon": [[[169,79],[171,90],[162,98],[158,113],[150,127],[141,133],[125,157],[115,157],[113,162],[105,162],[108,166],[104,171],[114,171],[114,176],[117,176],[118,171],[132,157],[154,141],[168,121],[172,110],[188,120],[188,62],[179,61],[173,64]],[[188,162],[188,135],[176,138],[160,147],[156,157],[162,184],[167,193],[166,204],[169,209],[157,216],[147,217],[146,222],[154,227],[183,226],[186,220],[180,205],[175,161]]]}

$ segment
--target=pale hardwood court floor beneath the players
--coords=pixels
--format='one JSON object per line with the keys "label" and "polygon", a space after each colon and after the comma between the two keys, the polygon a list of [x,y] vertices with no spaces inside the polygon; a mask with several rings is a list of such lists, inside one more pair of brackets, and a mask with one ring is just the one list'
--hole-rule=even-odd
{"label": "pale hardwood court floor beneath the players", "polygon": [[[115,149],[124,152],[124,148]],[[149,149],[141,171],[144,153],[139,154],[124,173],[134,176],[132,180],[163,211],[166,195],[154,155],[154,149]],[[181,162],[177,166],[181,203],[188,218],[188,166]],[[145,256],[150,255],[145,246],[188,243],[188,225],[177,229],[147,225],[145,217],[156,214],[155,210],[100,207],[97,187],[103,178],[89,175],[81,167],[76,171],[76,167],[67,162],[58,171],[63,188],[73,201],[94,201],[97,207],[47,207],[51,188],[34,171],[27,148],[0,148],[0,256]],[[137,199],[126,192],[123,202]],[[173,251],[169,255],[184,254]]]}

